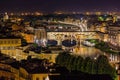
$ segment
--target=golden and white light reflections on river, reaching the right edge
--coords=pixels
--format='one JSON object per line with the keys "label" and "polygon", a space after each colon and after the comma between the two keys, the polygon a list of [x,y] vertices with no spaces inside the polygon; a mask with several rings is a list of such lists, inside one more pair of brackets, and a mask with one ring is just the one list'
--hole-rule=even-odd
{"label": "golden and white light reflections on river, reaching the right edge", "polygon": [[110,62],[118,62],[120,58],[120,56],[117,54],[105,53],[99,49],[96,49],[95,47],[87,47],[84,45],[75,46],[75,47],[63,47],[63,49],[69,50],[71,54],[80,55],[83,58],[91,57],[92,59],[97,59],[99,55],[105,55],[108,57]]}

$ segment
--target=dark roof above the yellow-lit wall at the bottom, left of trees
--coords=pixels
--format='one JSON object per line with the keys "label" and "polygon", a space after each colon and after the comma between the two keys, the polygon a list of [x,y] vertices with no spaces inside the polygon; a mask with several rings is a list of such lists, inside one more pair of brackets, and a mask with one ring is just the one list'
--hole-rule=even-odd
{"label": "dark roof above the yellow-lit wall at the bottom, left of trees", "polygon": [[23,67],[28,73],[48,73],[47,61],[40,59],[30,59],[21,61]]}

